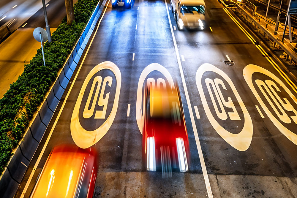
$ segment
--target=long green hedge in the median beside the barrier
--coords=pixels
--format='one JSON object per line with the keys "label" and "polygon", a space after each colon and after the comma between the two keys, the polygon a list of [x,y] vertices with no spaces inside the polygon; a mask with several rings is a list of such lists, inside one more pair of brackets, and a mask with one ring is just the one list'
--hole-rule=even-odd
{"label": "long green hedge in the median beside the barrier", "polygon": [[22,75],[0,99],[1,172],[23,137],[29,121],[56,80],[59,69],[63,67],[98,1],[78,0],[74,5],[75,21],[72,25],[67,25],[65,17],[53,32],[52,42],[44,45],[46,66],[43,66],[40,48],[30,63],[25,64]]}

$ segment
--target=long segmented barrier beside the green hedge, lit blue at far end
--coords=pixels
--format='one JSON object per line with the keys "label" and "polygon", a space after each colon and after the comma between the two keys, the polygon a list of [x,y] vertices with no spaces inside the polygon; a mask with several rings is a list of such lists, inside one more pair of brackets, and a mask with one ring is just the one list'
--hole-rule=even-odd
{"label": "long segmented barrier beside the green hedge, lit blue at far end", "polygon": [[0,180],[0,197],[14,197],[106,4],[99,1]]}

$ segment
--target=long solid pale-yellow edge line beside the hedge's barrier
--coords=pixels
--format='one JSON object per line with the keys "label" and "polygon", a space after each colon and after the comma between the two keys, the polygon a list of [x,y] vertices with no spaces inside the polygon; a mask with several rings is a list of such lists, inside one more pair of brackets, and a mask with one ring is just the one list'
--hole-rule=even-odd
{"label": "long solid pale-yellow edge line beside the hedge's barrier", "polygon": [[61,113],[62,113],[62,111],[63,111],[63,109],[64,109],[64,106],[65,106],[65,104],[66,104],[66,102],[67,102],[67,99],[68,99],[68,97],[69,97],[69,94],[70,94],[70,92],[71,92],[71,90],[72,90],[72,88],[73,88],[73,85],[74,85],[74,83],[75,83],[75,80],[76,80],[76,78],[78,77],[78,74],[79,74],[79,72],[80,72],[80,69],[81,69],[81,67],[82,67],[82,65],[83,65],[83,63],[84,63],[84,61],[85,61],[85,59],[86,59],[86,56],[87,56],[87,54],[88,54],[88,52],[89,52],[89,50],[90,50],[90,47],[91,47],[91,45],[92,45],[92,43],[93,43],[93,41],[94,41],[94,37],[95,37],[95,35],[97,34],[99,25],[100,25],[100,23],[101,23],[102,18],[104,17],[104,14],[105,14],[105,12],[106,12],[106,9],[107,9],[107,7],[108,7],[109,2],[110,2],[110,0],[108,0],[107,6],[105,7],[105,10],[104,10],[104,12],[103,12],[103,14],[102,14],[102,17],[101,17],[100,20],[99,20],[97,29],[96,29],[96,31],[95,31],[93,37],[92,37],[92,40],[91,40],[91,42],[90,42],[90,45],[89,45],[89,47],[88,47],[88,49],[87,49],[87,51],[86,51],[85,56],[83,57],[83,60],[81,61],[81,64],[80,64],[80,66],[79,66],[79,68],[78,68],[78,71],[76,72],[76,75],[75,75],[75,77],[74,77],[74,79],[73,79],[73,82],[72,82],[71,85],[70,85],[69,91],[67,92],[67,95],[66,95],[66,97],[65,97],[65,99],[64,99],[64,102],[63,102],[63,104],[62,104],[62,106],[61,106],[61,110],[59,111],[59,113],[58,113],[58,115],[57,115],[57,118],[56,118],[55,122],[53,123],[52,128],[50,129],[50,133],[48,134],[48,138],[47,138],[46,141],[45,141],[45,144],[44,144],[44,146],[43,146],[43,148],[42,148],[42,150],[41,150],[41,152],[40,152],[40,154],[39,154],[39,157],[38,157],[38,159],[37,159],[37,161],[36,161],[36,163],[35,163],[35,165],[34,165],[34,167],[33,167],[33,170],[32,170],[32,172],[31,172],[31,174],[30,174],[30,176],[29,176],[29,178],[28,178],[28,181],[27,181],[27,183],[26,183],[26,186],[25,186],[24,189],[23,189],[23,192],[22,192],[20,198],[23,198],[23,197],[25,196],[26,191],[28,190],[29,184],[31,183],[31,180],[32,180],[32,178],[33,178],[33,175],[34,175],[34,173],[35,173],[35,170],[36,170],[36,168],[37,168],[37,166],[38,166],[38,164],[39,164],[39,162],[40,162],[40,160],[41,160],[41,158],[42,158],[42,155],[43,155],[43,153],[44,153],[44,151],[45,151],[46,146],[48,145],[48,142],[50,141],[50,137],[52,136],[53,131],[54,131],[56,125],[57,125],[57,122],[58,122],[58,120],[59,120],[59,118],[60,118],[60,116],[61,116]]}

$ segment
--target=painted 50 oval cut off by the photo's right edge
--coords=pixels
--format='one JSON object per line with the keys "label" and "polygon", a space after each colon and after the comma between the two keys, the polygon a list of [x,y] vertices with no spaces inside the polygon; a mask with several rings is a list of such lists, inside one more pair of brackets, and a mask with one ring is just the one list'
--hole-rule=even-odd
{"label": "painted 50 oval cut off by the photo's right edge", "polygon": [[[252,77],[254,73],[263,74],[267,79],[264,81],[260,79],[253,80]],[[296,132],[296,97],[277,76],[260,66],[252,64],[247,65],[243,70],[243,75],[249,88],[252,90],[272,123],[274,123],[282,134],[297,145],[297,134],[290,131],[285,126],[285,124],[294,124],[293,128]],[[256,88],[260,91],[258,92]],[[283,91],[281,91],[281,89]],[[285,95],[286,97],[281,95]]]}

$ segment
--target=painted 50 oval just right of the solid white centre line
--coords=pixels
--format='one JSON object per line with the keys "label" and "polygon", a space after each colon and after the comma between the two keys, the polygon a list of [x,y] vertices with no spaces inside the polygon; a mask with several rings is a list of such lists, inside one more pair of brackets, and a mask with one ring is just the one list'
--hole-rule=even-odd
{"label": "painted 50 oval just right of the solid white centre line", "polygon": [[[215,74],[219,75],[219,78],[215,78],[214,80],[210,78],[205,78],[203,80],[202,76],[205,72],[214,72]],[[236,102],[238,102],[241,108],[241,111],[244,115],[244,120],[241,121],[241,122],[244,122],[243,128],[237,134],[231,133],[227,131],[223,126],[221,126],[221,124],[219,124],[219,122],[215,119],[212,111],[210,110],[210,107],[214,108],[214,114],[221,121],[226,120],[228,116],[232,121],[241,120],[241,118],[238,115],[238,111],[236,110],[234,105],[235,101],[232,101],[231,97],[224,98],[222,94],[224,91],[226,92],[227,88],[224,82],[221,80],[221,78],[227,81],[228,85],[231,88],[231,91],[233,92],[233,95],[236,98]],[[206,84],[206,87],[207,87],[206,90],[203,89],[202,83]],[[247,108],[242,102],[242,99],[239,96],[234,84],[232,83],[228,75],[222,70],[215,67],[214,65],[206,63],[201,65],[196,72],[196,85],[197,85],[207,118],[210,121],[211,125],[216,130],[216,132],[226,142],[228,142],[228,144],[236,148],[238,151],[246,151],[249,148],[249,145],[251,144],[252,136],[253,136],[252,119],[247,111]],[[208,104],[205,94],[210,95],[212,104]],[[219,104],[219,108],[217,104]],[[225,107],[228,110],[228,112],[225,110]]]}

